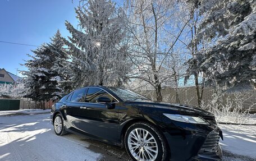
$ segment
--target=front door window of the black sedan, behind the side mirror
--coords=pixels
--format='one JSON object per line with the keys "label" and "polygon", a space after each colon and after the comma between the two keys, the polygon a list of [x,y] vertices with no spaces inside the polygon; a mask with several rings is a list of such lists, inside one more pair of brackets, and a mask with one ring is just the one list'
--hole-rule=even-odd
{"label": "front door window of the black sedan, behind the side mirror", "polygon": [[96,100],[102,96],[109,98],[111,102],[117,102],[113,96],[100,88],[89,88],[86,94],[85,102],[96,103]]}

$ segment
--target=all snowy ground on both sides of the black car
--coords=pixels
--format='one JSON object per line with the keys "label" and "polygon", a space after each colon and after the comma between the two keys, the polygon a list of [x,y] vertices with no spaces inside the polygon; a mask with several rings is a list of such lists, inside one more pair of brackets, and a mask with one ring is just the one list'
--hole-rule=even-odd
{"label": "all snowy ground on both sides of the black car", "polygon": [[[223,160],[256,160],[256,126],[220,125]],[[0,160],[129,160],[117,146],[68,134],[57,136],[47,114],[0,117]]]}

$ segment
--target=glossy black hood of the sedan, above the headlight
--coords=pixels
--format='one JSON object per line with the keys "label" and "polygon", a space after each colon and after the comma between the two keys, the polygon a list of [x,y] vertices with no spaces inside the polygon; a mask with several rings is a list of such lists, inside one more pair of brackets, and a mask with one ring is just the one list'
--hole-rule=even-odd
{"label": "glossy black hood of the sedan, above the headlight", "polygon": [[175,103],[165,103],[165,102],[153,102],[153,101],[132,101],[130,102],[136,106],[140,107],[153,107],[156,109],[161,109],[163,112],[170,112],[173,114],[186,114],[194,116],[214,116],[212,113],[198,107],[192,107],[184,104]]}

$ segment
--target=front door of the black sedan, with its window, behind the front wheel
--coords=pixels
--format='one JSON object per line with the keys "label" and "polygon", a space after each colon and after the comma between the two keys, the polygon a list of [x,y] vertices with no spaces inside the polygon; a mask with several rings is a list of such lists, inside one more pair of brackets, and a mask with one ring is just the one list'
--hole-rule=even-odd
{"label": "front door of the black sedan, with its window, behind the front wheel", "polygon": [[[106,104],[97,103],[97,98],[105,96],[111,99],[114,109],[108,109]],[[118,126],[118,101],[108,94],[105,90],[92,87],[88,88],[84,109],[81,109],[80,128],[84,132],[98,137],[98,139],[107,139],[116,141]]]}

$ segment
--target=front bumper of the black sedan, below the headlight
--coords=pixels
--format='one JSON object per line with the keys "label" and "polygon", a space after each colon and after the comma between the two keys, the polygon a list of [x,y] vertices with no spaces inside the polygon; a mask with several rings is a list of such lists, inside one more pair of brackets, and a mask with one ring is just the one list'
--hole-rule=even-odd
{"label": "front bumper of the black sedan, below the headlight", "polygon": [[191,123],[171,122],[163,126],[171,151],[171,160],[221,160],[220,136],[217,125],[195,125]]}

